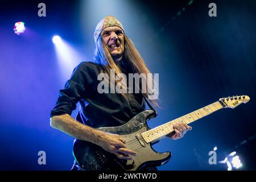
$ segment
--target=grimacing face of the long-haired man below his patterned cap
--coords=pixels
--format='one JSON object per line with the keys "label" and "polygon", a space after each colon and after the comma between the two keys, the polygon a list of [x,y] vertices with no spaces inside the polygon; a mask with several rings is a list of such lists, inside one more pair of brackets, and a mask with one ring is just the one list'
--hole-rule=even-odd
{"label": "grimacing face of the long-haired man below his patterned cap", "polygon": [[117,26],[106,27],[101,32],[102,39],[108,45],[110,54],[114,60],[121,59],[125,50],[123,30]]}

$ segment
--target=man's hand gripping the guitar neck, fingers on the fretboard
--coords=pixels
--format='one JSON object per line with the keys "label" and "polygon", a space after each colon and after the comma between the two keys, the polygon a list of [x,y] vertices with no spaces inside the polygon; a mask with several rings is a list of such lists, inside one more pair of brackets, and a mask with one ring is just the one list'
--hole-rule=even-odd
{"label": "man's hand gripping the guitar neck, fingers on the fretboard", "polygon": [[187,123],[184,122],[176,122],[173,126],[175,134],[170,133],[167,137],[170,137],[173,140],[182,138],[188,130],[192,130],[191,126],[188,126]]}

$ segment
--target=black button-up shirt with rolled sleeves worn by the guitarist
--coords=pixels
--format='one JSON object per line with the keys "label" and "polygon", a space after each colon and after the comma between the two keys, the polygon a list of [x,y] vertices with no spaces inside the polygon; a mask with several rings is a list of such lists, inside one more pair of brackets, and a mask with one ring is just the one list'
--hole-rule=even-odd
{"label": "black button-up shirt with rolled sleeves worn by the guitarist", "polygon": [[[124,73],[131,69],[121,67]],[[59,92],[53,115],[69,114],[80,102],[76,120],[91,127],[120,126],[145,109],[145,100],[141,93],[126,94],[127,100],[119,93],[98,93],[97,80],[100,65],[82,62],[73,71],[65,88]],[[128,78],[128,77],[127,77]]]}

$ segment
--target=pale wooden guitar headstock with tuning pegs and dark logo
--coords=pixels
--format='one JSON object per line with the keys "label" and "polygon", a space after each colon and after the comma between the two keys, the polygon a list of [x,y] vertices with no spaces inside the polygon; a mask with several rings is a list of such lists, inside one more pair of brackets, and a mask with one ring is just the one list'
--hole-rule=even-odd
{"label": "pale wooden guitar headstock with tuning pegs and dark logo", "polygon": [[246,104],[247,102],[249,102],[250,97],[249,96],[233,96],[233,97],[220,98],[220,100],[218,101],[223,107],[225,108],[229,107],[234,109],[234,107],[237,107],[242,103]]}

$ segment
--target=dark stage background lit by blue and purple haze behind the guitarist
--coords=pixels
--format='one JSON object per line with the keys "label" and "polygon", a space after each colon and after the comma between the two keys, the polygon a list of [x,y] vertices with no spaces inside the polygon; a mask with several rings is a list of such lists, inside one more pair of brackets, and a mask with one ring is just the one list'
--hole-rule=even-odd
{"label": "dark stage background lit by blue and purple haze behind the guitarist", "polygon": [[[38,4],[46,4],[46,17]],[[208,15],[209,3],[217,17]],[[93,32],[106,15],[116,16],[152,73],[159,73],[160,106],[155,127],[221,97],[251,100],[192,123],[180,140],[163,139],[156,151],[171,151],[159,170],[226,170],[209,165],[236,151],[242,170],[255,164],[256,1],[1,1],[0,169],[69,170],[73,138],[49,126],[59,89],[80,61],[92,61]],[[26,31],[14,34],[15,22]],[[64,55],[52,36],[65,41]],[[62,53],[62,54],[61,54]],[[65,55],[66,54],[66,55]],[[76,111],[73,112],[75,116]],[[46,165],[38,152],[46,152]]]}

